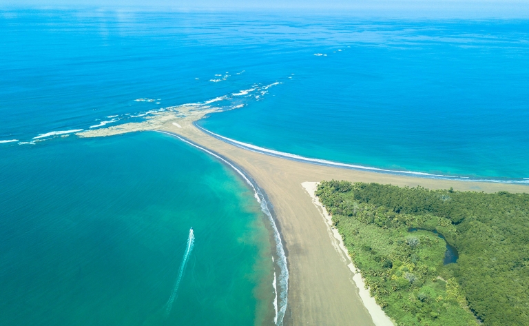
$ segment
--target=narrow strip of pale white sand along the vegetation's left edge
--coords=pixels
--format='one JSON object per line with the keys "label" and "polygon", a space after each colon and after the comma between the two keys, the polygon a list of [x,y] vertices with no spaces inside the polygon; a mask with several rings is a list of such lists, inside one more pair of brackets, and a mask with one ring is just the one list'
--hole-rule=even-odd
{"label": "narrow strip of pale white sand along the vegetation's left edge", "polygon": [[324,221],[326,221],[327,230],[329,230],[329,236],[331,237],[333,246],[335,247],[338,254],[342,255],[343,261],[346,263],[347,267],[349,267],[351,272],[353,272],[353,281],[358,288],[358,294],[360,294],[360,298],[362,298],[364,306],[371,315],[371,318],[373,318],[373,323],[375,323],[376,326],[394,326],[394,323],[386,315],[384,310],[382,310],[382,308],[377,305],[375,298],[369,294],[369,289],[366,289],[366,285],[362,275],[360,274],[360,271],[355,267],[355,265],[353,265],[351,258],[349,258],[349,252],[344,245],[342,236],[340,236],[340,233],[338,233],[338,229],[333,227],[333,218],[331,215],[329,215],[325,207],[323,207],[322,203],[320,203],[320,199],[318,199],[318,197],[315,195],[319,184],[319,182],[304,182],[301,185],[305,190],[307,190],[312,198],[312,202],[316,207],[318,207],[318,210],[320,210]]}

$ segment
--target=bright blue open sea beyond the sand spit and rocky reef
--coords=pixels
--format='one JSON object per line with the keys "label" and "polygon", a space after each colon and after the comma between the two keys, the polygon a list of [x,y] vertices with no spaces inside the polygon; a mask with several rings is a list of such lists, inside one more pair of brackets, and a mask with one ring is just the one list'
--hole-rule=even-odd
{"label": "bright blue open sea beyond the sand spit and rocky reef", "polygon": [[201,125],[320,159],[529,177],[529,21],[11,11],[0,28],[3,140],[279,81]]}

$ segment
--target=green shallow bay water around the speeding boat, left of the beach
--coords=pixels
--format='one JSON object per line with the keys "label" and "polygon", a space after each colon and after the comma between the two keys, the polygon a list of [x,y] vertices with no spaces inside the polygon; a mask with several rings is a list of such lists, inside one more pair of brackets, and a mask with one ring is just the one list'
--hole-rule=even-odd
{"label": "green shallow bay water around the speeding boat, left of the beach", "polygon": [[218,161],[154,132],[1,151],[1,325],[271,323],[269,233]]}

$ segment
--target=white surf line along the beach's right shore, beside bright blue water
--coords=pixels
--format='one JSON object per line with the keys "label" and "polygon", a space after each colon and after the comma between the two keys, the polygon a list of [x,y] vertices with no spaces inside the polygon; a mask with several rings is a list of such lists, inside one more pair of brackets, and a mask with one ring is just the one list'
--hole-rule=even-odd
{"label": "white surf line along the beach's right shore, beside bright blue water", "polygon": [[[426,172],[414,172],[414,171],[405,171],[405,170],[387,170],[387,169],[381,169],[380,167],[369,167],[369,166],[364,166],[364,165],[340,163],[340,162],[334,162],[334,161],[329,161],[329,160],[324,160],[324,159],[312,159],[310,157],[305,157],[305,156],[301,156],[298,154],[290,154],[287,152],[280,152],[278,150],[269,150],[264,147],[251,145],[249,143],[243,143],[242,141],[236,141],[235,139],[221,136],[220,134],[216,134],[203,127],[200,127],[197,121],[194,121],[193,125],[196,128],[198,128],[198,130],[205,132],[205,134],[208,134],[209,136],[212,136],[218,139],[219,141],[223,141],[225,143],[229,143],[230,145],[234,145],[236,147],[242,148],[243,150],[249,150],[250,152],[256,152],[256,153],[274,156],[274,157],[280,157],[281,159],[288,159],[291,161],[298,161],[298,162],[311,163],[315,165],[324,165],[324,166],[330,166],[330,167],[342,167],[342,168],[351,169],[351,170],[371,171],[371,172],[395,174],[395,175],[416,176],[416,177],[430,178],[430,179],[478,181],[478,182],[493,182],[493,183],[529,183],[528,180],[522,181],[522,180],[470,179],[468,176],[450,176],[450,175],[444,175],[444,174],[431,174],[431,173],[426,173]],[[526,178],[523,178],[523,179],[526,179]]]}

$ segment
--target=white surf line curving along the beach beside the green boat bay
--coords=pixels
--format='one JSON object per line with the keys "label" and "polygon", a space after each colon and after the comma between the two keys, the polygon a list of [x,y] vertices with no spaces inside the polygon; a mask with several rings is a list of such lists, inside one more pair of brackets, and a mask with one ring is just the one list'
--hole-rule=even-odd
{"label": "white surf line curving along the beach beside the green boat bay", "polygon": [[172,132],[165,132],[161,130],[157,130],[158,132],[161,132],[162,134],[168,134],[169,136],[174,136],[180,141],[183,141],[184,143],[187,143],[193,147],[198,148],[199,150],[202,150],[206,152],[207,154],[210,154],[211,156],[216,157],[220,161],[226,163],[234,169],[240,176],[242,176],[242,179],[244,179],[250,187],[253,189],[253,196],[256,198],[257,202],[260,203],[261,211],[267,216],[268,221],[271,225],[271,228],[273,230],[273,239],[275,242],[275,254],[276,258],[274,259],[272,257],[272,261],[274,264],[274,272],[273,272],[273,288],[276,291],[276,298],[273,300],[273,307],[276,312],[273,323],[277,326],[283,325],[283,318],[285,312],[287,312],[287,298],[288,298],[288,292],[289,292],[289,269],[287,267],[287,256],[284,253],[284,247],[283,243],[281,241],[281,236],[275,221],[275,218],[273,217],[273,210],[271,209],[271,206],[269,206],[268,203],[268,196],[267,194],[260,189],[260,187],[257,185],[255,181],[251,178],[251,176],[245,174],[242,172],[242,169],[239,167],[236,167],[234,163],[231,163],[228,159],[221,156],[220,154],[217,154],[215,152],[212,152],[211,150],[207,150],[204,147],[201,147],[197,145],[196,143],[193,143],[192,141],[189,141],[189,139],[186,139],[183,136],[179,136],[177,134],[173,134]]}

